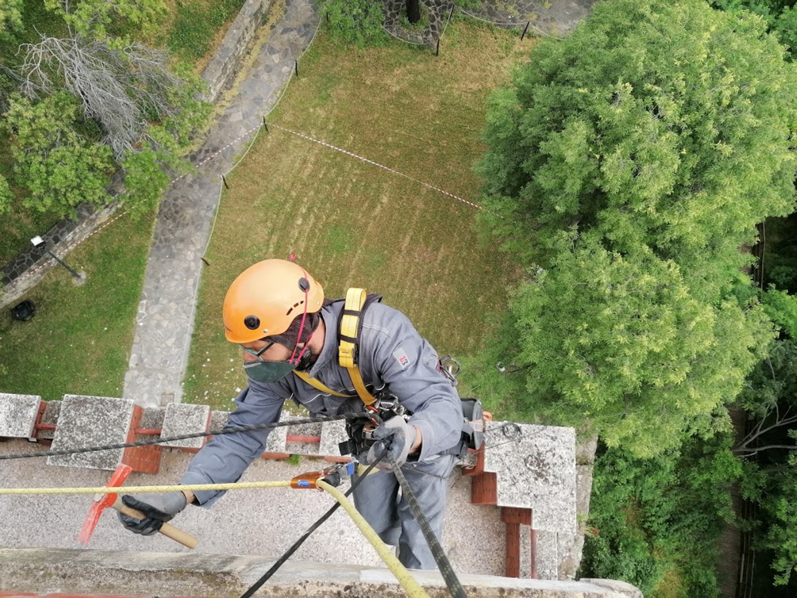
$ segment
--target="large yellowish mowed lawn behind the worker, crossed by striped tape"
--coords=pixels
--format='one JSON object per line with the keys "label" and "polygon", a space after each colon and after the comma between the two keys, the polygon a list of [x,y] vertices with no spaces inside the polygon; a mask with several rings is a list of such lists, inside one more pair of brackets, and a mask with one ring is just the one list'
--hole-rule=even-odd
{"label": "large yellowish mowed lawn behind the worker, crossed by striped tape", "polygon": [[[454,21],[441,53],[398,42],[358,51],[322,30],[269,122],[383,163],[477,202],[485,100],[508,81],[528,40]],[[422,184],[275,127],[227,177],[202,285],[186,400],[230,407],[245,386],[224,339],[222,302],[243,269],[297,262],[328,297],[349,286],[382,293],[440,355],[475,351],[505,308],[514,271],[480,242],[477,210]]]}

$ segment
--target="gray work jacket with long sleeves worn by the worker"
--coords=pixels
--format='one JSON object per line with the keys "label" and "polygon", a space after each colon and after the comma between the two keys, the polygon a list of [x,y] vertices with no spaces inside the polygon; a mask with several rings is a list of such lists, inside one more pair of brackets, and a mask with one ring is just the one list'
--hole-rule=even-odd
{"label": "gray work jacket with long sleeves worn by the worker", "polygon": [[[337,301],[321,309],[326,337],[321,354],[310,369],[316,378],[333,391],[356,395],[345,368],[338,364],[338,320],[344,302]],[[387,389],[412,415],[410,423],[422,432],[423,461],[457,444],[462,428],[462,407],[457,391],[440,372],[438,355],[423,339],[407,317],[397,309],[371,303],[363,317],[359,335],[359,371],[363,382],[371,388]],[[235,399],[238,403],[230,414],[228,426],[252,426],[280,419],[285,399],[295,399],[311,414],[337,415],[363,411],[359,397],[343,398],[327,395],[313,388],[298,376],[289,374],[273,384],[249,380],[249,387]],[[265,448],[270,430],[219,435],[191,460],[181,484],[235,482],[249,463]],[[194,493],[196,503],[210,506],[223,492]]]}

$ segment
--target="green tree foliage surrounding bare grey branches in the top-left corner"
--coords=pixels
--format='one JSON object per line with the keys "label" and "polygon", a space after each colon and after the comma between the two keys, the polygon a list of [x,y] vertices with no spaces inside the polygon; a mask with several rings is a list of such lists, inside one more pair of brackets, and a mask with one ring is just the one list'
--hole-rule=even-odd
{"label": "green tree foliage surrounding bare grey branches in the top-left corner", "polygon": [[165,3],[47,0],[41,8],[26,9],[17,37],[0,45],[0,129],[11,159],[2,164],[0,211],[26,228],[25,210],[60,218],[78,203],[105,203],[120,167],[128,210],[151,210],[169,182],[163,168],[183,167],[190,132],[209,108],[195,99],[202,82],[190,69],[136,41],[152,35]]}

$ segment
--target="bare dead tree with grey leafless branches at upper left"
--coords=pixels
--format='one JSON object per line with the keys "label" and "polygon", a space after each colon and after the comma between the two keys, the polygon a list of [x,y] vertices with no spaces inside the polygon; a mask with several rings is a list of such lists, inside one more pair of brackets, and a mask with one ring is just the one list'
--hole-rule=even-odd
{"label": "bare dead tree with grey leafless branches at upper left", "polygon": [[135,44],[116,49],[79,36],[42,37],[21,50],[22,92],[36,98],[39,92],[68,89],[84,115],[103,128],[117,158],[139,143],[148,120],[179,112],[170,98],[184,83],[167,68],[165,52]]}

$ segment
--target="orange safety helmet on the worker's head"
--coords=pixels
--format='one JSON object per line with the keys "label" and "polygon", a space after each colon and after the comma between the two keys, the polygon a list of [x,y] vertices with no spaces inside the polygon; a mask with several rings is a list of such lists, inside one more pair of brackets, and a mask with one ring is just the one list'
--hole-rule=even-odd
{"label": "orange safety helmet on the worker's head", "polygon": [[316,313],[323,304],[324,289],[298,264],[278,259],[257,262],[227,290],[225,336],[241,344],[281,334],[305,309]]}

